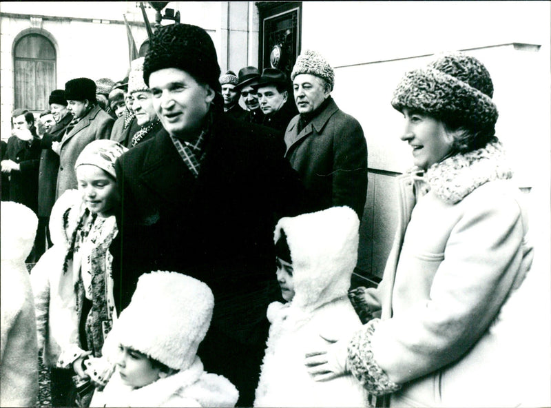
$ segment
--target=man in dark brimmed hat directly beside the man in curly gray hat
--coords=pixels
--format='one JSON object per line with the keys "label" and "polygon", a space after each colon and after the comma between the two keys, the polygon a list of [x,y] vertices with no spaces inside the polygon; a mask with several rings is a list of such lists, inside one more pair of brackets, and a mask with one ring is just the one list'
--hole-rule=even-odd
{"label": "man in dark brimmed hat directly beside the man in curly gray hat", "polygon": [[287,75],[277,68],[264,68],[253,88],[256,89],[264,114],[262,125],[278,130],[283,135],[293,116],[298,114],[294,101],[289,97]]}

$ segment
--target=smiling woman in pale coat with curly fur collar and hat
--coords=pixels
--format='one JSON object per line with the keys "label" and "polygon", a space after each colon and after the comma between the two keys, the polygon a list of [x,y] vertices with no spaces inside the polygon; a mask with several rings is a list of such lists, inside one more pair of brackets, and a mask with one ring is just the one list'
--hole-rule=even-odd
{"label": "smiling woman in pale coat with curly fur collar and hat", "polygon": [[417,169],[399,177],[399,230],[382,282],[365,291],[373,319],[306,358],[316,379],[351,371],[399,407],[523,402],[519,370],[528,365],[514,343],[522,333],[505,334],[515,333],[507,305],[533,252],[495,137],[492,94],[484,65],[461,53],[407,72],[397,86],[392,105],[404,114],[402,140]]}

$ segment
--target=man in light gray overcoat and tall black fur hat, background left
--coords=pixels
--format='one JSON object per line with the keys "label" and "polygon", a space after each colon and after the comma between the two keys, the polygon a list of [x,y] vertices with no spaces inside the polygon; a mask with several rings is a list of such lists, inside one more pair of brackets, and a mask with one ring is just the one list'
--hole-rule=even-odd
{"label": "man in light gray overcoat and tall black fur hat, background left", "polygon": [[96,83],[92,79],[76,78],[65,83],[65,99],[74,119],[61,142],[52,143],[52,150],[59,154],[56,199],[65,190],[76,188],[74,163],[84,147],[97,139],[109,139],[114,123],[98,105]]}

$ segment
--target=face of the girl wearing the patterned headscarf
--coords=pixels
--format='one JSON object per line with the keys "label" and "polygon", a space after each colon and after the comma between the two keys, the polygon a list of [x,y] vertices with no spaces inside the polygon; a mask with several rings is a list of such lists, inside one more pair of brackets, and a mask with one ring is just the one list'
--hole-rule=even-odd
{"label": "face of the girl wearing the patterned headscarf", "polygon": [[116,181],[101,168],[83,164],[76,167],[79,192],[90,212],[98,216],[110,216],[118,201]]}

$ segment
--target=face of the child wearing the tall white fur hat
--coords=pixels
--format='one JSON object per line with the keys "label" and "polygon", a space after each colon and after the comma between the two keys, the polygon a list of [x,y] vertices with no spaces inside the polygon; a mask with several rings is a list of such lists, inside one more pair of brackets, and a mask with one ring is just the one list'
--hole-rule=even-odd
{"label": "face of the child wearing the tall white fur hat", "polygon": [[123,345],[118,346],[116,365],[123,384],[134,389],[145,387],[159,379],[160,368],[154,367],[152,360]]}

